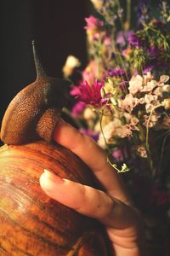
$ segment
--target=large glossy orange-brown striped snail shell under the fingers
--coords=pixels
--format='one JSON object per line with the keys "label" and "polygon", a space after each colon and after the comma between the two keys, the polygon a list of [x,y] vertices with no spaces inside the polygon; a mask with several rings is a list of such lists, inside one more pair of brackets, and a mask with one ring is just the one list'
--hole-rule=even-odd
{"label": "large glossy orange-brown striped snail shell under the fingers", "polygon": [[66,148],[37,142],[0,148],[1,256],[108,256],[105,232],[96,220],[46,195],[43,169],[95,186],[88,167]]}

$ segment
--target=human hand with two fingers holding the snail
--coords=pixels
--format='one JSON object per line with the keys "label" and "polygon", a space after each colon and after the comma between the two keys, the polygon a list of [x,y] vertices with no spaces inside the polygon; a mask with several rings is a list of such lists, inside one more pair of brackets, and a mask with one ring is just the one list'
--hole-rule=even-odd
{"label": "human hand with two fingers holding the snail", "polygon": [[120,174],[107,162],[105,151],[63,120],[59,120],[54,131],[54,141],[77,154],[107,192],[62,179],[48,171],[40,177],[42,189],[61,204],[104,224],[114,255],[146,256],[143,220],[133,207]]}

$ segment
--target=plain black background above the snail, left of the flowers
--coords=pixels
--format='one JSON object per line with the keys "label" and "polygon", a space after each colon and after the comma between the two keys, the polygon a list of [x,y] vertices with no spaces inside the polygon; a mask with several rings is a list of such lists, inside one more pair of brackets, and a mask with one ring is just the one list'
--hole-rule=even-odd
{"label": "plain black background above the snail, left of the flowers", "polygon": [[31,40],[37,39],[42,65],[61,77],[67,55],[87,61],[83,26],[88,0],[0,1],[0,122],[15,94],[36,79]]}

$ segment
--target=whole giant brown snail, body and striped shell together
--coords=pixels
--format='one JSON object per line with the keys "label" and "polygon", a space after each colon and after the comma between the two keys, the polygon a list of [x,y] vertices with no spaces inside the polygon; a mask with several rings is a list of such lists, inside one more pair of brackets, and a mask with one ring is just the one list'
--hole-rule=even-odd
{"label": "whole giant brown snail, body and striped shell together", "polygon": [[52,140],[70,83],[48,77],[33,49],[37,79],[9,103],[1,129],[0,255],[111,255],[97,220],[59,204],[40,187],[44,169],[94,188],[99,184],[76,154]]}

